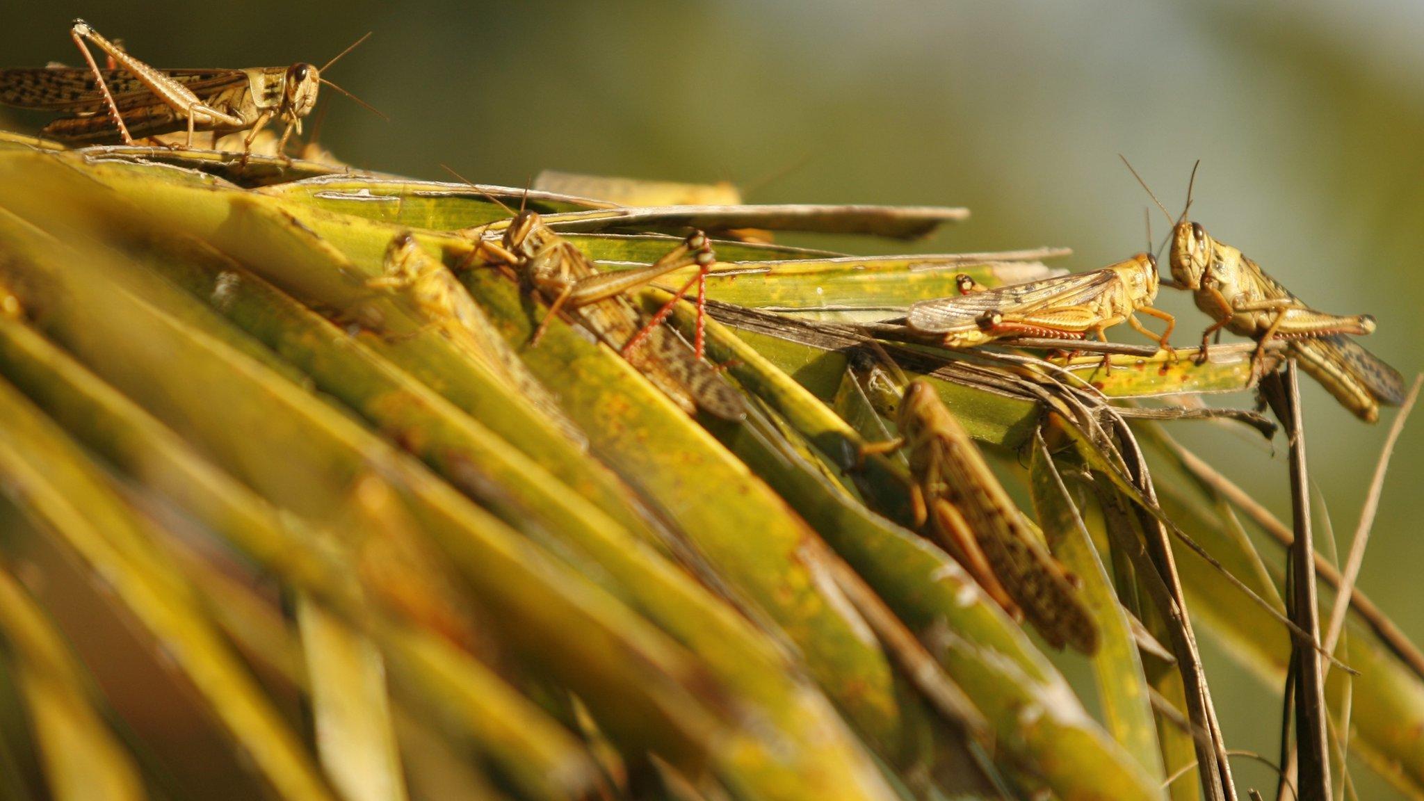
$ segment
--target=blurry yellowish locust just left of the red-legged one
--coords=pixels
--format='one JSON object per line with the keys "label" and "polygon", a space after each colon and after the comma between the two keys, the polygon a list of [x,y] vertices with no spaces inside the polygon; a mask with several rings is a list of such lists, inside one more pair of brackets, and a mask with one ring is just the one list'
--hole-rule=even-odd
{"label": "blurry yellowish locust just left of the red-legged one", "polygon": [[555,428],[580,445],[587,438],[558,406],[554,395],[520,361],[494,324],[484,315],[468,289],[416,237],[402,231],[386,247],[382,275],[370,278],[372,289],[404,292],[420,316],[454,346],[533,403]]}

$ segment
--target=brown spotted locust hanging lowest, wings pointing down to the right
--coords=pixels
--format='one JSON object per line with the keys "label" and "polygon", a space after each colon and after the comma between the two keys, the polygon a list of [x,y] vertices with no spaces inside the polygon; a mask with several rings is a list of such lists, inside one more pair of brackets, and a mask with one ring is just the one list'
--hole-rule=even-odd
{"label": "brown spotted locust hanging lowest, wings pointing down to the right", "polygon": [[1098,626],[1078,596],[1077,577],[1031,530],[934,386],[909,382],[894,420],[900,436],[862,453],[907,449],[916,526],[927,527],[990,597],[1012,617],[1027,617],[1051,646],[1094,653]]}

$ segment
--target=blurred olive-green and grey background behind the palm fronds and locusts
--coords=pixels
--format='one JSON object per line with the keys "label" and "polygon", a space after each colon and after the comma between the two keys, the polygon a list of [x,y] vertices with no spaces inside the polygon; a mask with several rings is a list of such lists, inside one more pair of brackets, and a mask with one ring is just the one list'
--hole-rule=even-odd
{"label": "blurred olive-green and grey background behind the palm fronds and locusts", "polygon": [[[753,202],[967,205],[890,252],[1069,245],[1087,269],[1142,249],[1149,202],[1192,215],[1316,306],[1370,312],[1368,346],[1408,378],[1424,339],[1424,4],[1219,3],[24,3],[7,66],[77,63],[83,16],[158,67],[323,63],[390,121],[325,93],[340,158],[524,185],[544,168],[731,180]],[[320,111],[319,111],[320,113]],[[26,121],[30,121],[26,117]],[[1161,239],[1166,224],[1153,211]],[[1183,296],[1178,342],[1205,326]],[[1125,338],[1135,335],[1125,334]],[[1222,402],[1250,405],[1247,396]],[[1317,483],[1343,539],[1384,439],[1306,388]],[[1175,433],[1289,515],[1284,445]],[[1424,432],[1386,482],[1361,586],[1424,641]],[[1269,553],[1274,553],[1269,550]],[[1208,643],[1227,740],[1273,754],[1279,704]],[[1269,770],[1242,765],[1243,782]]]}

